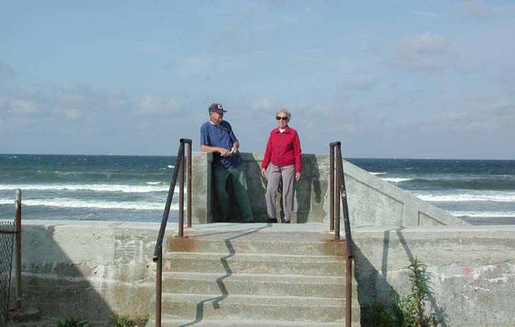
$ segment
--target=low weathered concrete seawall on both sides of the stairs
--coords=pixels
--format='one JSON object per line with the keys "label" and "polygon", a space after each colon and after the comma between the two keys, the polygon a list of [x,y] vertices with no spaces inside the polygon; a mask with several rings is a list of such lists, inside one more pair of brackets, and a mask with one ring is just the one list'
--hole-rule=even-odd
{"label": "low weathered concrete seawall on both sides of the stairs", "polygon": [[[158,228],[24,221],[23,305],[91,322],[150,313]],[[356,227],[352,234],[361,306],[406,294],[405,268],[417,257],[432,274],[428,307],[442,307],[448,326],[515,326],[515,226]]]}

